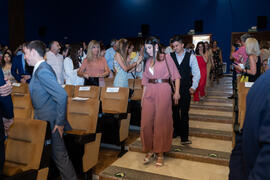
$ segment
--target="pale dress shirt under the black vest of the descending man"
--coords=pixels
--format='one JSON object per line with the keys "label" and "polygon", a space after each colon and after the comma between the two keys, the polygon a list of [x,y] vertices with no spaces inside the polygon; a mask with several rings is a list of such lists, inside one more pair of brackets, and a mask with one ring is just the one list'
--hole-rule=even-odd
{"label": "pale dress shirt under the black vest of the descending man", "polygon": [[[181,55],[178,55],[177,53],[176,54],[176,58],[177,58],[177,61],[179,63],[179,65],[181,65],[184,57],[185,57],[185,54],[186,54],[186,50],[184,51],[183,54]],[[197,61],[197,58],[194,54],[191,54],[190,55],[190,61],[189,61],[189,66],[191,68],[191,73],[192,73],[192,86],[191,88],[196,90],[198,85],[199,85],[199,81],[200,81],[200,78],[201,78],[201,72],[200,72],[200,68],[199,68],[199,65],[198,65],[198,61]]]}

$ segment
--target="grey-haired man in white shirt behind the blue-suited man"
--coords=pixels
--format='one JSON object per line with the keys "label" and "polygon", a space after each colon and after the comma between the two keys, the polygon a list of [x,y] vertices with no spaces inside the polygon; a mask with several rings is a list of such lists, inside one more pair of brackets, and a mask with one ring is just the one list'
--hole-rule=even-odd
{"label": "grey-haired man in white shirt behind the blue-suited man", "polygon": [[46,53],[47,63],[53,68],[59,84],[64,84],[63,56],[59,54],[61,46],[57,41],[49,44],[50,51]]}

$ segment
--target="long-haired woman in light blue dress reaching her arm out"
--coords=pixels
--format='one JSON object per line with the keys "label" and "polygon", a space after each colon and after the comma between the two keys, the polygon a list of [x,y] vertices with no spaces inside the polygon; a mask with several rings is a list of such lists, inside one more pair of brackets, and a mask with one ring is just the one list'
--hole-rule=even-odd
{"label": "long-haired woman in light blue dress reaching her arm out", "polygon": [[126,87],[128,88],[128,71],[135,68],[142,58],[131,65],[128,65],[128,41],[126,39],[120,39],[118,42],[118,47],[116,54],[114,56],[114,69],[116,72],[113,86],[115,87]]}

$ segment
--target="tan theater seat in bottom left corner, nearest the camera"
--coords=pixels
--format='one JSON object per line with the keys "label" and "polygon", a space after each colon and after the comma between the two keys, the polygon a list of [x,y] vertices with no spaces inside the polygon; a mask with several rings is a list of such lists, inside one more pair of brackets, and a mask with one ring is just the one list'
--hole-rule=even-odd
{"label": "tan theater seat in bottom left corner, nearest the camera", "polygon": [[45,121],[15,118],[6,141],[4,180],[47,179],[50,145],[45,141],[48,133]]}

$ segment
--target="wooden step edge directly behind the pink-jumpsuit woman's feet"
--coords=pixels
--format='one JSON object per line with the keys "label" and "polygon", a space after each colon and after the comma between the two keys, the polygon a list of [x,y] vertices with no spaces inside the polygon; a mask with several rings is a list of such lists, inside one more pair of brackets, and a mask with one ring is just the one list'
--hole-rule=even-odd
{"label": "wooden step edge directly behind the pink-jumpsuit woman's feet", "polygon": [[[141,141],[135,141],[129,145],[129,151],[142,152]],[[192,148],[190,146],[180,145],[172,145],[171,151],[167,152],[166,156],[223,166],[228,166],[230,159],[230,153],[228,152]]]}

